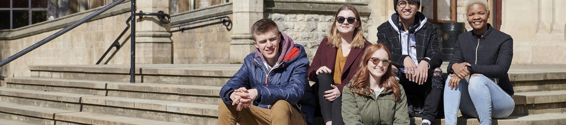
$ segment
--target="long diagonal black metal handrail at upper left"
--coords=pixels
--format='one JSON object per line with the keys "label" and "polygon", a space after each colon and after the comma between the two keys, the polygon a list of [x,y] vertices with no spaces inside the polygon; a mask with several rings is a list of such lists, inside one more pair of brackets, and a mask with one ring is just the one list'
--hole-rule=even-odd
{"label": "long diagonal black metal handrail at upper left", "polygon": [[[8,58],[5,59],[5,60],[0,61],[0,67],[2,67],[2,66],[4,66],[4,65],[6,65],[6,64],[8,64],[8,63],[10,63],[10,62],[12,62],[12,61],[14,61],[14,60],[16,60],[16,59],[18,59],[19,57],[22,57],[22,56],[25,55],[26,53],[35,50],[37,47],[40,47],[40,46],[42,46],[43,44],[48,43],[49,41],[52,41],[53,39],[55,39],[55,38],[61,36],[62,34],[67,33],[67,32],[70,31],[71,29],[76,28],[77,26],[79,26],[79,25],[81,25],[81,24],[87,22],[88,20],[91,20],[92,18],[94,18],[94,17],[96,17],[96,16],[102,14],[102,12],[105,12],[105,11],[110,10],[110,8],[116,6],[116,5],[118,5],[119,3],[122,3],[122,2],[124,2],[124,1],[126,1],[126,0],[117,0],[117,1],[114,1],[114,2],[110,3],[109,5],[106,5],[105,7],[100,8],[100,10],[97,10],[97,11],[93,12],[92,14],[88,15],[87,17],[84,17],[83,19],[80,19],[79,21],[76,21],[75,23],[73,23],[73,24],[71,24],[71,25],[69,25],[69,26],[63,28],[62,30],[59,30],[57,33],[54,33],[53,35],[49,35],[49,37],[47,37],[47,38],[45,38],[45,39],[42,39],[41,41],[39,41],[39,42],[33,44],[32,46],[29,46],[28,48],[25,48],[24,50],[22,50],[22,51],[20,51],[20,52],[14,54],[14,55],[8,57]],[[132,6],[134,6],[133,2],[135,2],[135,0],[132,0]],[[132,8],[132,9],[134,9],[134,8]],[[132,48],[133,48],[133,47],[132,47]]]}

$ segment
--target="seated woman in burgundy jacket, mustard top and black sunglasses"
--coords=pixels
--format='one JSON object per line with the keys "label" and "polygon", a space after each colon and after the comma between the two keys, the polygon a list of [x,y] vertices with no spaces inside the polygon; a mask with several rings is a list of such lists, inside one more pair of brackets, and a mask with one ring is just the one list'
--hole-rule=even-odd
{"label": "seated woman in burgundy jacket, mustard top and black sunglasses", "polygon": [[325,124],[344,124],[342,88],[356,72],[362,50],[371,43],[362,35],[362,22],[354,6],[342,5],[334,17],[330,33],[320,42],[308,69],[308,79],[315,82]]}

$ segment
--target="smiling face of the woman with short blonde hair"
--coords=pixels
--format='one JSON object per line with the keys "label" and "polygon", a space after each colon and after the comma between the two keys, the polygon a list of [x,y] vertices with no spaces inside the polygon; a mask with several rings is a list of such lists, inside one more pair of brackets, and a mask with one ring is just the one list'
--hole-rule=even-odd
{"label": "smiling face of the woman with short blonde hair", "polygon": [[474,30],[487,29],[487,19],[490,18],[490,13],[487,11],[486,7],[480,4],[470,5],[468,7],[468,24]]}

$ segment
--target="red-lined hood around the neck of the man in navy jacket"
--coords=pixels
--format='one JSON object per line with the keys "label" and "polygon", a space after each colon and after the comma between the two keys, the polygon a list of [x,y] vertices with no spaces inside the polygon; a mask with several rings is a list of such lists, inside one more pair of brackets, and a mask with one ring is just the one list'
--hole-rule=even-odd
{"label": "red-lined hood around the neck of the man in navy jacket", "polygon": [[[289,37],[287,34],[285,34],[283,32],[279,32],[279,34],[281,35],[281,42],[279,42],[279,50],[278,50],[278,52],[280,53],[280,56],[279,56],[279,59],[277,59],[276,64],[282,63],[282,61],[284,61],[286,55],[288,55],[288,53],[291,50],[293,50],[293,48],[295,48],[295,42],[293,42],[293,39],[291,39],[291,37]],[[255,57],[256,58],[260,57],[261,62],[265,61],[263,55],[261,55],[261,52],[259,51],[259,48],[255,48]]]}

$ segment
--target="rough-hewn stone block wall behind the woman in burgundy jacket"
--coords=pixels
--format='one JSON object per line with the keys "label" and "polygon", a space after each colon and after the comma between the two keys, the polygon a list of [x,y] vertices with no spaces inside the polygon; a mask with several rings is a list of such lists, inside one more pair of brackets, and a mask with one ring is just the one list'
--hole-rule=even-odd
{"label": "rough-hewn stone block wall behind the woman in burgundy jacket", "polygon": [[[272,19],[279,26],[279,30],[289,35],[297,44],[303,45],[307,57],[312,61],[316,49],[334,21],[334,14],[279,14],[264,13],[264,17]],[[373,28],[368,16],[362,16],[362,27],[364,36],[368,36],[367,28]],[[367,37],[366,37],[367,38]]]}

